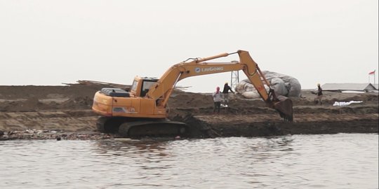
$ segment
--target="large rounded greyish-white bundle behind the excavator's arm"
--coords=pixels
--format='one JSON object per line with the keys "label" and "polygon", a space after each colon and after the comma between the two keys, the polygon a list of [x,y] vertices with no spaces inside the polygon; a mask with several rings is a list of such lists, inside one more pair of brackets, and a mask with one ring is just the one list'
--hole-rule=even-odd
{"label": "large rounded greyish-white bundle behind the excavator's arm", "polygon": [[[262,73],[265,78],[271,83],[271,87],[277,95],[282,95],[285,97],[300,96],[301,85],[296,78],[273,71],[262,71]],[[268,92],[269,87],[265,85],[265,88]],[[234,90],[248,99],[260,98],[257,90],[255,90],[255,87],[250,83],[250,80],[248,79],[239,82]]]}

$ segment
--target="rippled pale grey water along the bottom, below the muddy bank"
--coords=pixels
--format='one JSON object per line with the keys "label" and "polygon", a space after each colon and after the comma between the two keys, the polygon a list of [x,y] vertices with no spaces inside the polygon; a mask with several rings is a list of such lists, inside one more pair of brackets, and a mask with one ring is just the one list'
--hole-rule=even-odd
{"label": "rippled pale grey water along the bottom, below the muddy bank", "polygon": [[0,188],[378,188],[378,134],[0,141]]}

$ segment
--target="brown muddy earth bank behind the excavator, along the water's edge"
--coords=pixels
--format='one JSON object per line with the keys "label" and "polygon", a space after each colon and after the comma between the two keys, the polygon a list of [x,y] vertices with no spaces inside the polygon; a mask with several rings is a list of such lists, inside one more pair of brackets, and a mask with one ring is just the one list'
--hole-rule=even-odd
{"label": "brown muddy earth bank behind the excavator, along the water's edge", "polygon": [[[100,84],[0,86],[0,139],[105,139],[91,111]],[[213,114],[211,94],[176,90],[168,101],[169,118],[191,127],[189,138],[262,137],[282,134],[378,133],[378,93],[324,92],[324,103],[303,90],[292,97],[294,120],[281,120],[260,99],[232,94],[230,106]],[[334,102],[361,101],[348,106]]]}

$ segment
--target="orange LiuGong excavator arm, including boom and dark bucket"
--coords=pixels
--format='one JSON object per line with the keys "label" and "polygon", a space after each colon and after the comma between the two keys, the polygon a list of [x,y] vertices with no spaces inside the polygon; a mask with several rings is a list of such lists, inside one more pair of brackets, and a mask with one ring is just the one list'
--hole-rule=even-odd
{"label": "orange LiuGong excavator arm, including boom and dark bucket", "polygon": [[[239,55],[239,62],[206,62],[211,59],[227,57],[236,53]],[[187,62],[188,60],[190,61]],[[270,83],[260,71],[258,64],[254,62],[248,52],[244,50],[238,50],[237,52],[230,54],[222,53],[220,55],[201,59],[187,59],[184,62],[175,64],[171,66],[171,68],[161,76],[158,82],[150,88],[146,96],[155,99],[157,106],[166,107],[171,92],[173,92],[173,89],[179,80],[192,76],[239,70],[244,71],[268,107],[276,109],[284,120],[293,120],[291,99],[283,96],[276,96],[274,90],[270,87]],[[270,88],[268,92],[265,89],[265,85]]]}

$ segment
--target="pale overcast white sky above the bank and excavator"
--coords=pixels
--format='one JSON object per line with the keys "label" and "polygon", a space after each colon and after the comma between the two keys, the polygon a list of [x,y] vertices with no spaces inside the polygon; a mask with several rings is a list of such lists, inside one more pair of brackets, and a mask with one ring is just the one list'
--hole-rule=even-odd
{"label": "pale overcast white sky above the bank and excavator", "polygon": [[[374,83],[374,70],[379,83],[378,41],[378,0],[0,0],[0,85],[129,85],[237,50],[302,89]],[[213,92],[230,80],[227,72],[177,85]]]}

